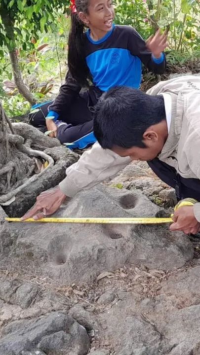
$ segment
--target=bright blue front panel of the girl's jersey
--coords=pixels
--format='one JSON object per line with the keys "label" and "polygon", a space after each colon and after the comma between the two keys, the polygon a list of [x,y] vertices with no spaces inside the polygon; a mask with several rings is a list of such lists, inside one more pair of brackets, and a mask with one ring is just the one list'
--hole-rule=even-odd
{"label": "bright blue front panel of the girl's jersey", "polygon": [[[128,49],[108,48],[96,50],[86,57],[93,82],[102,91],[114,86],[138,89],[141,84],[142,65],[137,56]],[[125,69],[125,70],[124,70]]]}

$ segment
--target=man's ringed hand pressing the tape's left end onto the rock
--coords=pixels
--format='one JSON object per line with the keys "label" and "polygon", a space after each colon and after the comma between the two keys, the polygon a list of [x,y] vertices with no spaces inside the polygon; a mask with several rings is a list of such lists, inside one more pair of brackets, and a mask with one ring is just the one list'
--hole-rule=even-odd
{"label": "man's ringed hand pressing the tape's left end onto the rock", "polygon": [[37,197],[36,204],[21,218],[21,220],[32,217],[37,220],[56,212],[66,197],[67,196],[60,190],[59,186],[42,192]]}

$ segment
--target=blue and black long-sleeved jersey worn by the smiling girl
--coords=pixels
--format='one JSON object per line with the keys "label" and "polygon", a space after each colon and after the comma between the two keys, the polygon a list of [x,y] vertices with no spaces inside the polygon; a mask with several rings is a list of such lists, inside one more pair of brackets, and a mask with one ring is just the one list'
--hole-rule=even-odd
{"label": "blue and black long-sleeved jersey worn by the smiling girl", "polygon": [[[85,60],[90,70],[93,85],[89,89],[89,106],[96,104],[102,92],[114,86],[139,88],[142,77],[142,64],[156,74],[165,71],[164,53],[159,59],[147,50],[145,41],[130,26],[113,25],[111,31],[98,41],[85,33]],[[61,86],[59,95],[49,107],[49,116],[55,120],[66,111],[81,86],[68,71],[65,84]]]}

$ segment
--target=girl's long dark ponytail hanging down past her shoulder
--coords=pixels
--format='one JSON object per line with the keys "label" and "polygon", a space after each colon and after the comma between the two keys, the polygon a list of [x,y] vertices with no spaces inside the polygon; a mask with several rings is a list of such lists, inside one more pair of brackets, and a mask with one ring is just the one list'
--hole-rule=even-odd
{"label": "girl's long dark ponytail hanging down past her shoulder", "polygon": [[89,0],[76,0],[77,12],[71,14],[71,29],[68,41],[68,67],[72,76],[82,86],[88,86],[91,74],[87,67],[84,50],[84,24],[78,13],[87,13]]}

